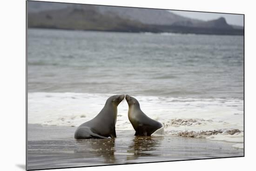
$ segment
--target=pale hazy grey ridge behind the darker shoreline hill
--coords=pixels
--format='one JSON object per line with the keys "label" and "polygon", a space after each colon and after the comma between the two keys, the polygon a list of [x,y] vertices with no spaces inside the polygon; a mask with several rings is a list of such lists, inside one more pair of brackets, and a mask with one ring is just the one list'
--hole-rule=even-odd
{"label": "pale hazy grey ridge behind the darker shoreline hill", "polygon": [[113,6],[99,6],[99,5],[81,5],[81,4],[66,4],[66,3],[48,3],[29,1],[28,13],[38,13],[50,10],[59,10],[67,7],[77,9],[94,9],[101,14],[114,13],[121,18],[129,20],[137,20],[143,24],[153,25],[171,25],[176,21],[191,21],[200,22],[201,20],[194,20],[161,9],[148,9],[148,8],[132,8],[132,7],[113,7]]}

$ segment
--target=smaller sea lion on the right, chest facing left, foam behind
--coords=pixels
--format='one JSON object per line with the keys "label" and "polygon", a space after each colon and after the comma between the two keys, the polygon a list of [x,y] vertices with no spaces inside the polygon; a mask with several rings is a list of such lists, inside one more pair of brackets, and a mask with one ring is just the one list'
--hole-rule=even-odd
{"label": "smaller sea lion on the right, chest facing left, foam behind", "polygon": [[129,105],[128,118],[135,129],[136,136],[150,136],[163,127],[160,122],[149,118],[141,111],[138,100],[129,95],[126,95],[125,99]]}

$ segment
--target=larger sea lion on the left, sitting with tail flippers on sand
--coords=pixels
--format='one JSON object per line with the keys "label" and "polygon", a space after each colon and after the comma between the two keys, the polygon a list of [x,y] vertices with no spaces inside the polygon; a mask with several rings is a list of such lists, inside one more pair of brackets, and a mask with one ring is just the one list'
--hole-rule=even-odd
{"label": "larger sea lion on the left, sitting with tail flippers on sand", "polygon": [[115,95],[108,98],[103,109],[97,116],[76,129],[74,138],[115,138],[117,106],[123,99],[124,95]]}

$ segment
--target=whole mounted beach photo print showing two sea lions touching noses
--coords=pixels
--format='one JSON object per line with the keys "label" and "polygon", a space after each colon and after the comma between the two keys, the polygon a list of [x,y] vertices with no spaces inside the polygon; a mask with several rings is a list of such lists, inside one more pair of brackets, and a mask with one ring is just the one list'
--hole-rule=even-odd
{"label": "whole mounted beach photo print showing two sea lions touching noses", "polygon": [[243,22],[27,1],[27,170],[243,157]]}

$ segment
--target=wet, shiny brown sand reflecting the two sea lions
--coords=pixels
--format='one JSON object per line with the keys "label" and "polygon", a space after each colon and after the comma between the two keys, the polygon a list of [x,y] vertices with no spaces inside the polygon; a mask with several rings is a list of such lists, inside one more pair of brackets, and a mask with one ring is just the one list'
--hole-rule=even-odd
{"label": "wet, shiny brown sand reflecting the two sea lions", "polygon": [[239,157],[236,143],[173,136],[136,137],[116,131],[117,138],[75,140],[76,127],[28,125],[27,169],[129,164],[200,158]]}

